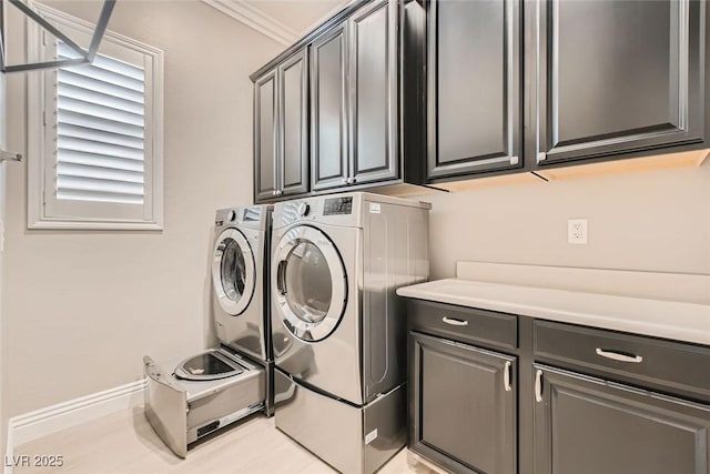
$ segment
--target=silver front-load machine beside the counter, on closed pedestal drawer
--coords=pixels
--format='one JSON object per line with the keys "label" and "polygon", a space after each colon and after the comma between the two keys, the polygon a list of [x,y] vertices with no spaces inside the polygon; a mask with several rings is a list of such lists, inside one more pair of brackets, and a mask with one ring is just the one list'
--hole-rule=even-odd
{"label": "silver front-load machine beside the counter, on closed pedestal drawer", "polygon": [[276,427],[341,472],[374,472],[406,443],[395,291],[428,278],[429,209],[364,192],[274,206]]}

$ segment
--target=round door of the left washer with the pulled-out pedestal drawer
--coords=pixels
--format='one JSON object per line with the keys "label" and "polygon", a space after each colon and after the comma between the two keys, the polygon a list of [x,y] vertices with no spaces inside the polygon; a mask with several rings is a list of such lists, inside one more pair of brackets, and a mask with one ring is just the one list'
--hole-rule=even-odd
{"label": "round door of the left washer with the pulled-out pedestal drawer", "polygon": [[225,229],[212,253],[212,286],[224,312],[242,314],[254,294],[254,254],[244,234]]}

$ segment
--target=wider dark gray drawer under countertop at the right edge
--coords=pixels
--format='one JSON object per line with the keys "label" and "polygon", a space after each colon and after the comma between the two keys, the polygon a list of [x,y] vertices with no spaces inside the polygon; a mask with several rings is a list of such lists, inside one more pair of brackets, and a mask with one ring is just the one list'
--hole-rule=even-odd
{"label": "wider dark gray drawer under countertop at the right edge", "polygon": [[710,397],[710,347],[536,320],[535,356]]}

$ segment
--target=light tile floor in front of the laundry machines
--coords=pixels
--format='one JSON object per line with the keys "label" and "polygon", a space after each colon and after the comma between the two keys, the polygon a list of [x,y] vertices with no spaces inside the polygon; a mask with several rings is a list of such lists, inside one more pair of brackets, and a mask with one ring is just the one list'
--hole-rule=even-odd
{"label": "light tile floor in front of the laundry machines", "polygon": [[[276,430],[274,418],[252,415],[196,443],[185,460],[175,456],[148,424],[141,407],[122,411],[14,448],[14,460],[61,455],[61,467],[16,467],[14,473],[200,473],[325,474],[335,471]],[[433,473],[407,450],[383,474]]]}

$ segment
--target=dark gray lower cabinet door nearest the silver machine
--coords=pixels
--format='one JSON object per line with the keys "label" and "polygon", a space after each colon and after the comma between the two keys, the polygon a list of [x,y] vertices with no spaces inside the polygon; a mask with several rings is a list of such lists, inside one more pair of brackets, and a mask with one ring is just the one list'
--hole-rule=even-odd
{"label": "dark gray lower cabinet door nearest the silver machine", "polygon": [[516,473],[516,357],[412,333],[409,443],[454,472]]}

